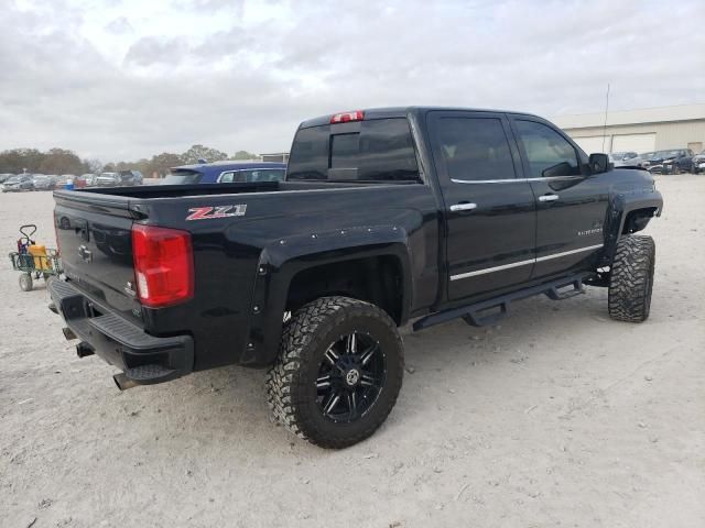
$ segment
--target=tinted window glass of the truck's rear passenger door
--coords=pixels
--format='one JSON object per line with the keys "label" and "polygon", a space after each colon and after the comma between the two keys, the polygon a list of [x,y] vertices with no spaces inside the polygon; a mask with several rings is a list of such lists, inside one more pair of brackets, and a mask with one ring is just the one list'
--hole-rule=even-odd
{"label": "tinted window glass of the truck's rear passenger door", "polygon": [[505,129],[494,118],[442,118],[436,150],[452,179],[511,179],[514,165]]}

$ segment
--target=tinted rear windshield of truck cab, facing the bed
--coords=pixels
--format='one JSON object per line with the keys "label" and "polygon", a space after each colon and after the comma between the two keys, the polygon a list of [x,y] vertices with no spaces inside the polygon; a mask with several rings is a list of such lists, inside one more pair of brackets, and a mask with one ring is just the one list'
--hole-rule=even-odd
{"label": "tinted rear windshield of truck cab, facing the bed", "polygon": [[417,180],[409,123],[403,118],[360,122],[359,132],[336,134],[337,125],[296,133],[286,179]]}

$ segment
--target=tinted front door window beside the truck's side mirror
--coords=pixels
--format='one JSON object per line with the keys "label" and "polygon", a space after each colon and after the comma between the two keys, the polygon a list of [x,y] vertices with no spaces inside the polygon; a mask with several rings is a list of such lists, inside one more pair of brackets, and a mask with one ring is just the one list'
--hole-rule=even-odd
{"label": "tinted front door window beside the truck's side mirror", "polygon": [[519,143],[529,162],[530,177],[581,174],[575,148],[555,130],[534,121],[518,120],[514,123]]}

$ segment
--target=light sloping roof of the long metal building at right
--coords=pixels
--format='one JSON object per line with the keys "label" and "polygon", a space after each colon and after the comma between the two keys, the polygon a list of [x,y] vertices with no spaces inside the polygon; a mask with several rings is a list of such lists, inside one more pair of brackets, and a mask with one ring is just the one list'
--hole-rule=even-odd
{"label": "light sloping roof of the long metal building at right", "polygon": [[[610,110],[607,114],[607,125],[662,123],[669,121],[692,121],[696,119],[705,119],[705,103],[638,108],[634,110]],[[562,129],[604,127],[605,112],[556,116],[552,118],[551,121]]]}

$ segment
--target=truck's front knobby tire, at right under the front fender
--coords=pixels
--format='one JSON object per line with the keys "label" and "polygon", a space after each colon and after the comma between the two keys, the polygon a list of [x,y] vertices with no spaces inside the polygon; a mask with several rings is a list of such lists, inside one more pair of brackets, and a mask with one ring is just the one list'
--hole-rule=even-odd
{"label": "truck's front knobby tire, at right under the front fender", "polygon": [[625,235],[609,277],[609,317],[618,321],[642,322],[649,317],[655,243],[651,237]]}

